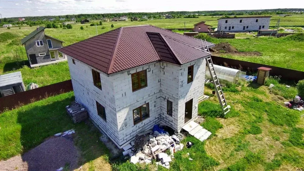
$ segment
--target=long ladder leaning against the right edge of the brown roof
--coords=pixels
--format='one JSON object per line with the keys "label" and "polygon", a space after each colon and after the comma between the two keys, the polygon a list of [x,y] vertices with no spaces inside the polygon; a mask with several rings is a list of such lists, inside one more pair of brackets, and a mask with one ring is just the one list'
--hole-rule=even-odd
{"label": "long ladder leaning against the right edge of the brown roof", "polygon": [[[205,42],[206,42],[206,45],[207,45],[206,50],[209,51],[207,41],[205,40]],[[216,72],[214,70],[214,65],[213,65],[211,56],[207,57],[205,59],[206,59],[206,64],[207,64],[208,69],[209,69],[209,73],[211,75],[211,79],[213,81],[213,85],[214,85],[214,88],[215,88],[217,98],[219,99],[219,104],[222,106],[224,115],[226,115],[226,113],[228,113],[230,111],[230,106],[227,104],[224,93],[223,93],[222,88],[221,88],[221,85],[219,84],[219,79],[216,76]]]}

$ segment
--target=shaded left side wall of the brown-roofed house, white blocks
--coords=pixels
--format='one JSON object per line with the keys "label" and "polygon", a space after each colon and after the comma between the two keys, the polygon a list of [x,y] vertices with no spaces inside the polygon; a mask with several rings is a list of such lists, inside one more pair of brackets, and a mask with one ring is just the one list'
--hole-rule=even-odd
{"label": "shaded left side wall of the brown-roofed house, white blocks", "polygon": [[[114,86],[112,77],[100,72],[102,90],[93,83],[90,66],[67,55],[70,74],[74,89],[75,100],[85,106],[89,117],[97,124],[115,143],[119,142]],[[96,69],[95,69],[96,70]],[[106,121],[97,114],[96,101],[105,107]]]}

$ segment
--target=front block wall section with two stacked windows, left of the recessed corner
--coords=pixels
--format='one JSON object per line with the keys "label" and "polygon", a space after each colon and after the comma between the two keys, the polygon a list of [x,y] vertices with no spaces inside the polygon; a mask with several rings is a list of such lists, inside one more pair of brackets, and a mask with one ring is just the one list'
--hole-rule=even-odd
{"label": "front block wall section with two stacked windows, left of the recessed corner", "polygon": [[[147,70],[147,87],[132,92],[131,74]],[[160,121],[160,62],[153,62],[113,74],[116,112],[118,121],[119,145],[132,138],[136,133],[145,131]],[[150,117],[135,124],[133,110],[149,103]]]}

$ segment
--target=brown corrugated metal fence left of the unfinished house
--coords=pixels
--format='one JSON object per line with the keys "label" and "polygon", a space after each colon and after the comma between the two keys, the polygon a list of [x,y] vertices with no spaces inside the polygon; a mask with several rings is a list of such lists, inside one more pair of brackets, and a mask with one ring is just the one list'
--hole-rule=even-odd
{"label": "brown corrugated metal fence left of the unfinished house", "polygon": [[14,109],[35,101],[73,91],[72,80],[46,85],[36,89],[4,96],[0,98],[0,112],[5,109]]}

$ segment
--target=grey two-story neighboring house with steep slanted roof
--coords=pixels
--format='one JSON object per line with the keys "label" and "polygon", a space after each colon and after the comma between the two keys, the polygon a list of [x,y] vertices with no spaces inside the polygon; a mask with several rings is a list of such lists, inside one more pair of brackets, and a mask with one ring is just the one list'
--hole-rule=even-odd
{"label": "grey two-story neighboring house with steep slanted roof", "polygon": [[45,28],[46,27],[40,26],[21,40],[21,44],[25,47],[30,67],[67,60],[62,53],[57,51],[63,47],[62,43],[64,41],[46,35],[44,33]]}

